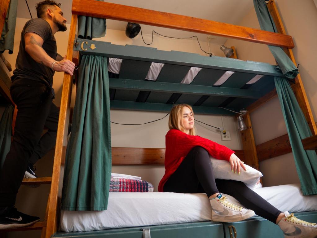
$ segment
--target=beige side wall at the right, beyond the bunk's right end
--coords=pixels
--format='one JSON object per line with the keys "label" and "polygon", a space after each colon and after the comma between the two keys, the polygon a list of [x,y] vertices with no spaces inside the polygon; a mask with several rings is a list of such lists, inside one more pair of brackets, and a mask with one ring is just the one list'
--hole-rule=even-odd
{"label": "beige side wall at the right, beyond the bunk's right end", "polygon": [[[316,121],[317,49],[314,47],[317,37],[316,5],[313,0],[275,0],[275,3],[280,12],[286,33],[293,37],[295,45],[293,49],[294,57],[297,64],[300,64],[301,79]],[[260,29],[254,9],[250,10],[238,24]],[[234,45],[238,58],[241,60],[275,64],[275,60],[266,45],[231,39],[225,44]],[[277,97],[251,113],[251,120],[256,145],[287,133]],[[260,170],[264,175],[263,183],[265,186],[299,182],[292,153],[261,162]]]}

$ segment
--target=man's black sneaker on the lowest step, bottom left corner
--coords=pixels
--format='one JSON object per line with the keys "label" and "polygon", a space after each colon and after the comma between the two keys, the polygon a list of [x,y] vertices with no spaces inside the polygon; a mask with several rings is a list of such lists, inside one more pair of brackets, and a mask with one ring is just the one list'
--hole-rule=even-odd
{"label": "man's black sneaker on the lowest step, bottom left corner", "polygon": [[37,216],[26,215],[12,207],[0,215],[0,230],[29,226],[39,220]]}

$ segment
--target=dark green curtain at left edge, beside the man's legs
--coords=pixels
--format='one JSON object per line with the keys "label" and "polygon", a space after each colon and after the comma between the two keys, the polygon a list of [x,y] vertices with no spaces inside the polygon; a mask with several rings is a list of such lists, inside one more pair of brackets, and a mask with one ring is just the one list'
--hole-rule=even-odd
{"label": "dark green curtain at left edge, beside the man's legs", "polygon": [[0,170],[2,169],[5,157],[10,150],[13,111],[14,106],[9,104],[5,108],[0,120]]}

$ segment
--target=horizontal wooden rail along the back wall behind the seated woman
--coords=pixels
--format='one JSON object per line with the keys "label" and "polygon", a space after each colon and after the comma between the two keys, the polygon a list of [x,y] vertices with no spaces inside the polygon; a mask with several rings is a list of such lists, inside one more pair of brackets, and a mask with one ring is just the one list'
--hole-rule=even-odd
{"label": "horizontal wooden rail along the back wall behind the seated woman", "polygon": [[[242,161],[244,161],[244,151],[236,151]],[[165,149],[159,148],[112,148],[113,165],[164,165]]]}

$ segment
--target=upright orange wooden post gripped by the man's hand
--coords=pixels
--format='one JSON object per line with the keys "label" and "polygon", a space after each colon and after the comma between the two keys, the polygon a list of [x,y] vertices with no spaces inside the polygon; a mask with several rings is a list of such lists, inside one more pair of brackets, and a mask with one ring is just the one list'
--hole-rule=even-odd
{"label": "upright orange wooden post gripped by the man's hand", "polygon": [[[72,15],[71,28],[68,37],[68,48],[66,59],[72,60],[74,39],[76,32],[77,15]],[[65,160],[68,120],[70,111],[71,89],[73,78],[70,74],[64,73],[64,82],[61,95],[61,109],[58,119],[55,157],[53,165],[52,185],[49,196],[49,211],[47,218],[46,238],[50,238],[58,228],[58,199],[61,196],[63,174],[61,173],[61,164]]]}

